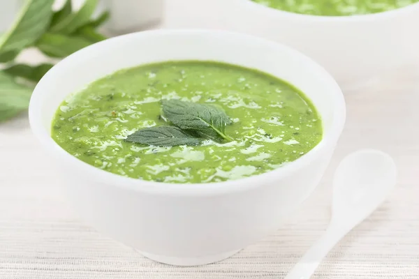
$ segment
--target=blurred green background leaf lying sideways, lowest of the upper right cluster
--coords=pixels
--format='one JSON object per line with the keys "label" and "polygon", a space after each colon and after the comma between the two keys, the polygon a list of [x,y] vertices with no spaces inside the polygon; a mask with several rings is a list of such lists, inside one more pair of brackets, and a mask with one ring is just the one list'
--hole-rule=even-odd
{"label": "blurred green background leaf lying sideways, lowest of the upper right cluster", "polygon": [[36,47],[41,52],[47,56],[59,58],[66,57],[88,45],[91,45],[91,42],[84,38],[56,33],[45,33],[36,42]]}

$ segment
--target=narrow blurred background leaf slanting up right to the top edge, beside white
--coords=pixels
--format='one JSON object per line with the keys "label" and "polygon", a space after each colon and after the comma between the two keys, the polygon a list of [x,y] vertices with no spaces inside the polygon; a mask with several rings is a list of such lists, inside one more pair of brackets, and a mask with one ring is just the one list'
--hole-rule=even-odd
{"label": "narrow blurred background leaf slanting up right to the top edge, beside white", "polygon": [[86,0],[80,10],[68,15],[64,20],[55,24],[51,27],[50,31],[61,34],[73,33],[79,27],[90,22],[91,15],[94,13],[97,4],[98,0]]}

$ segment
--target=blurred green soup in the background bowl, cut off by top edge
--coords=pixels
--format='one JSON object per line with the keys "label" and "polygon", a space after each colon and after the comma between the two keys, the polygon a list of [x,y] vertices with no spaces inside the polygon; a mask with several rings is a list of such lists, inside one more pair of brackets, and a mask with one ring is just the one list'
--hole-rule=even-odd
{"label": "blurred green soup in the background bowl, cut off by top edge", "polygon": [[252,0],[256,3],[304,15],[366,15],[403,8],[419,0]]}

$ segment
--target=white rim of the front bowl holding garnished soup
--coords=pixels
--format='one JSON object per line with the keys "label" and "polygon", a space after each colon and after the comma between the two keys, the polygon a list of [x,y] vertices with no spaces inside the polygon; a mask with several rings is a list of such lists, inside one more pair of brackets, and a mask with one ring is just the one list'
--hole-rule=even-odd
{"label": "white rim of the front bowl holding garnished soup", "polygon": [[[47,130],[43,127],[41,121],[41,112],[38,109],[41,107],[41,96],[45,95],[44,86],[50,80],[52,73],[54,73],[57,68],[66,67],[67,64],[73,63],[73,60],[82,61],[83,57],[88,56],[91,52],[94,52],[98,48],[106,47],[109,43],[122,42],[126,40],[135,40],[135,38],[141,38],[142,40],[147,39],[149,36],[173,36],[184,34],[198,34],[202,35],[203,33],[211,36],[211,34],[223,34],[223,36],[228,37],[237,37],[246,40],[258,40],[259,44],[273,45],[279,50],[286,51],[292,55],[300,56],[300,59],[303,59],[304,63],[309,63],[311,66],[314,66],[318,69],[318,74],[321,75],[322,80],[325,80],[331,85],[332,90],[334,91],[334,96],[331,101],[331,105],[334,107],[333,119],[330,127],[330,131],[323,135],[321,142],[319,142],[313,149],[304,154],[304,156],[294,160],[290,163],[286,163],[283,167],[270,170],[263,174],[257,174],[254,176],[245,177],[242,179],[214,182],[214,183],[163,183],[156,181],[145,181],[141,179],[133,179],[131,177],[121,176],[119,174],[114,174],[112,172],[107,172],[103,169],[98,169],[92,165],[84,163],[82,160],[75,158],[70,153],[61,148],[51,137],[50,130]],[[46,93],[47,94],[47,93]],[[319,66],[315,61],[309,59],[308,56],[305,56],[301,52],[294,50],[291,47],[282,45],[279,43],[266,40],[264,38],[258,38],[256,36],[251,36],[243,33],[231,32],[231,31],[220,31],[220,30],[205,30],[205,29],[178,29],[178,30],[150,30],[150,31],[141,31],[136,33],[128,33],[126,35],[117,36],[110,38],[108,40],[103,40],[89,47],[85,47],[78,52],[67,56],[62,61],[59,61],[36,85],[34,93],[31,96],[31,101],[29,104],[29,123],[31,130],[41,142],[41,145],[46,149],[47,153],[54,157],[58,157],[59,160],[66,161],[66,165],[72,169],[77,170],[80,173],[87,174],[89,177],[93,177],[96,183],[102,183],[103,185],[110,185],[120,188],[125,188],[129,190],[134,190],[142,193],[149,193],[153,195],[171,195],[171,196],[210,196],[210,195],[224,195],[233,192],[240,192],[244,190],[249,190],[251,188],[257,188],[260,186],[260,181],[274,181],[279,180],[282,177],[289,176],[293,172],[297,172],[304,165],[309,165],[315,158],[321,156],[324,149],[334,148],[341,132],[344,128],[344,123],[346,120],[346,105],[344,101],[344,95],[341,92],[341,89],[333,77],[321,66]]]}

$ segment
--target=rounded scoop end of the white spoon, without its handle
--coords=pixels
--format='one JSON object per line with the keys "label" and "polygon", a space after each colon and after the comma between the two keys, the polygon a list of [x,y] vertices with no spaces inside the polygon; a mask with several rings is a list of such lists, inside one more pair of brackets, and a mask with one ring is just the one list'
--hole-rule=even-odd
{"label": "rounded scoop end of the white spoon, without its handle", "polygon": [[396,178],[394,161],[382,151],[362,149],[346,156],[333,181],[332,222],[360,223],[384,201]]}

